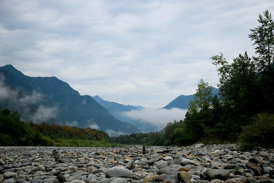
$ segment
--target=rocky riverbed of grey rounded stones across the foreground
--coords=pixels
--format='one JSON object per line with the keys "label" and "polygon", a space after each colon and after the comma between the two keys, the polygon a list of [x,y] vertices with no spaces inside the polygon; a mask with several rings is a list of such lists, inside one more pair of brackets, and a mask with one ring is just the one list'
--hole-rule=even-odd
{"label": "rocky riverbed of grey rounded stones across the foreground", "polygon": [[274,149],[0,147],[4,182],[274,182]]}

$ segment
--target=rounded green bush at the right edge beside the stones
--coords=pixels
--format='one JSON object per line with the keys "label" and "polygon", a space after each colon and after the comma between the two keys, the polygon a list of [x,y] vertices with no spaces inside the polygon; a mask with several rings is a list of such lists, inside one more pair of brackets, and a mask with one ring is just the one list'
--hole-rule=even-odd
{"label": "rounded green bush at the right edge beside the stones", "polygon": [[239,143],[242,149],[253,147],[274,147],[274,114],[261,113],[253,119],[251,125],[242,127]]}

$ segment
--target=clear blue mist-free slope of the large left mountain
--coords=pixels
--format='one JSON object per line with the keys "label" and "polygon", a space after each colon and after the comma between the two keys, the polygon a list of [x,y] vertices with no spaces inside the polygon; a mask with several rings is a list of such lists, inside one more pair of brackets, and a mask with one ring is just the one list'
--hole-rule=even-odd
{"label": "clear blue mist-free slope of the large left mountain", "polygon": [[[39,105],[56,106],[59,111],[55,120],[61,125],[70,123],[76,124],[77,127],[97,125],[99,130],[108,131],[110,136],[112,136],[111,133],[119,135],[140,132],[134,125],[115,119],[92,97],[79,95],[77,90],[57,77],[29,77],[12,65],[1,66],[0,73],[5,77],[5,83],[15,88],[21,95],[32,96],[34,91],[42,95],[40,103],[37,105],[34,103],[33,110],[37,111]],[[18,97],[18,99],[21,98]],[[1,107],[5,107],[3,102],[1,103]],[[5,103],[7,103],[6,100]],[[52,120],[50,120],[51,123]]]}

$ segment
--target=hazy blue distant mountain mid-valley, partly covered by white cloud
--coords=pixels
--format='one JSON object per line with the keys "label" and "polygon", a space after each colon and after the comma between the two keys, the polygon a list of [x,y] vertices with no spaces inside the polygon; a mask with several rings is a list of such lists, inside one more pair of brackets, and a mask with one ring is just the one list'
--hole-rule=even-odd
{"label": "hazy blue distant mountain mid-valley, partly covered by white cloud", "polygon": [[119,119],[120,121],[127,121],[128,123],[131,123],[132,125],[138,126],[138,129],[140,129],[143,133],[147,132],[155,132],[155,130],[158,130],[158,127],[155,127],[151,123],[148,123],[147,121],[141,121],[141,120],[134,120],[132,118],[129,118],[125,116],[123,112],[129,112],[131,110],[142,110],[145,109],[142,106],[130,106],[130,105],[123,105],[120,103],[116,103],[113,101],[105,101],[98,95],[93,97],[95,101],[101,104],[104,108],[112,114],[116,119]]}

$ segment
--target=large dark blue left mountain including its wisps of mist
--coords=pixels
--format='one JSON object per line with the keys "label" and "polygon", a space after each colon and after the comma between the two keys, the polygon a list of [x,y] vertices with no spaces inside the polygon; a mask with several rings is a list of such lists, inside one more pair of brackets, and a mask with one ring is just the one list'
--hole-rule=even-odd
{"label": "large dark blue left mountain including its wisps of mist", "polygon": [[140,132],[132,124],[114,118],[89,95],[79,95],[57,77],[29,77],[12,65],[0,67],[0,106],[18,110],[22,119],[58,125],[92,127],[110,136]]}

